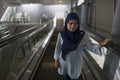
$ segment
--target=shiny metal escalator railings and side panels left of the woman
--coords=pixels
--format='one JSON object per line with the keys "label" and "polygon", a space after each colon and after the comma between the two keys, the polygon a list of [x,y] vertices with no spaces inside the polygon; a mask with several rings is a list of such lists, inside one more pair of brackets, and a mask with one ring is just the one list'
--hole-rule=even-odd
{"label": "shiny metal escalator railings and side panels left of the woman", "polygon": [[[53,20],[51,20],[42,26],[34,26],[33,28],[30,28],[18,34],[1,39],[1,79],[19,80],[22,78],[31,61],[34,60],[34,57],[40,57],[42,55],[42,51],[49,42],[54,29],[55,27],[53,26]],[[48,41],[46,41],[46,39]],[[39,50],[41,52],[38,53]],[[33,68],[34,67],[35,65]]]}

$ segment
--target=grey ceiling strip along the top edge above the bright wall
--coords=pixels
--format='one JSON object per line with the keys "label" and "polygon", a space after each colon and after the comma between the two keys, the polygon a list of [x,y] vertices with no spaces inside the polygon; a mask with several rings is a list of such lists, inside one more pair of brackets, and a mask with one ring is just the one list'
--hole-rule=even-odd
{"label": "grey ceiling strip along the top edge above the bright wall", "polygon": [[9,0],[9,4],[40,3],[43,5],[69,4],[70,0]]}

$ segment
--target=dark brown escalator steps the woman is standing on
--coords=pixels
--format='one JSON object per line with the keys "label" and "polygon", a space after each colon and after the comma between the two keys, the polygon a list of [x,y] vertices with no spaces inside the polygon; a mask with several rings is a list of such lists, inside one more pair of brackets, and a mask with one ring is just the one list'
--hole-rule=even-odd
{"label": "dark brown escalator steps the woman is standing on", "polygon": [[[58,31],[55,31],[33,80],[64,80],[63,76],[57,73],[57,69],[54,66],[53,55],[57,40],[57,34]],[[80,77],[80,80],[83,80],[82,76]]]}

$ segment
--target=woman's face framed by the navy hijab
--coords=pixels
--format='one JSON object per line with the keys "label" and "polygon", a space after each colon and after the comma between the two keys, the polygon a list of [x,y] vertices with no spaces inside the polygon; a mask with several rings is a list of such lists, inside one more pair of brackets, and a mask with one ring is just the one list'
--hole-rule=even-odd
{"label": "woman's face framed by the navy hijab", "polygon": [[71,19],[67,24],[67,29],[71,32],[77,30],[78,28],[78,22],[75,19]]}

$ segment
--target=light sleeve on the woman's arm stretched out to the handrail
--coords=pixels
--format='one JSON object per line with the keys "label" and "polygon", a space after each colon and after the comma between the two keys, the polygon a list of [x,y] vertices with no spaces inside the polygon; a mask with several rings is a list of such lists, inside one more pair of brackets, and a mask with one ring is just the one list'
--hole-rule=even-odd
{"label": "light sleeve on the woman's arm stretched out to the handrail", "polygon": [[97,55],[102,55],[101,48],[98,44],[92,43],[88,36],[85,36],[84,40],[85,47]]}

